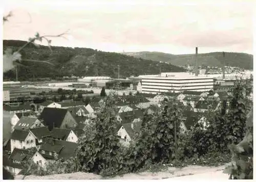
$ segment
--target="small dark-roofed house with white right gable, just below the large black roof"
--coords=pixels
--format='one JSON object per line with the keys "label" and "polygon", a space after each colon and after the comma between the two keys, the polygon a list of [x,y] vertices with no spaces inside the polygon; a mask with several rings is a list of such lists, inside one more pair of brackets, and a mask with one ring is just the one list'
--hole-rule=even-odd
{"label": "small dark-roofed house with white right gable, just below the large black roof", "polygon": [[77,143],[78,136],[71,128],[61,129],[54,127],[51,131],[51,137],[57,140]]}

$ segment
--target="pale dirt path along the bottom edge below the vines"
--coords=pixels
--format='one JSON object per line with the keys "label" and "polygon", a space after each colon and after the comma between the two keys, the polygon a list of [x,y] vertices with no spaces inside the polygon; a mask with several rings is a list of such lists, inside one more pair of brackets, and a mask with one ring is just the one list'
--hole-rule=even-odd
{"label": "pale dirt path along the bottom edge below the vines", "polygon": [[[202,167],[202,166],[187,166],[182,169],[169,167],[168,170],[161,172],[141,172],[141,173],[130,173],[122,176],[116,176],[114,178],[102,178],[100,175],[93,173],[76,172],[71,174],[55,174],[49,176],[27,176],[25,179],[168,179],[178,176],[206,176],[210,175],[211,178],[221,176],[225,178],[228,175],[222,174],[224,166],[219,167]],[[218,174],[218,175],[217,175]],[[22,175],[17,175],[15,179],[22,179]]]}

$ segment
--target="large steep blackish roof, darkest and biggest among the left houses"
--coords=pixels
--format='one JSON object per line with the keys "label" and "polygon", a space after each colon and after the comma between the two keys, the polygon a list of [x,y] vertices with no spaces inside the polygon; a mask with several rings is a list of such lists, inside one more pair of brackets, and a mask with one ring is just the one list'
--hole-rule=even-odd
{"label": "large steep blackish roof, darkest and biggest among the left houses", "polygon": [[40,115],[40,119],[44,119],[44,124],[49,127],[51,131],[53,124],[55,127],[60,127],[63,119],[65,118],[68,110],[59,108],[44,108]]}

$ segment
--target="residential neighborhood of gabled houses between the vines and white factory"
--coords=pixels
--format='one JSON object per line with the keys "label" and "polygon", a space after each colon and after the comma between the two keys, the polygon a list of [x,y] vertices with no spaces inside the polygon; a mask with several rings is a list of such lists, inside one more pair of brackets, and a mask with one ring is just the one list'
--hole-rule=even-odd
{"label": "residential neighborhood of gabled houses between the vines and white factory", "polygon": [[[181,129],[186,132],[196,123],[207,127],[204,113],[220,109],[226,97],[210,92],[184,91],[182,93],[117,95],[116,119],[120,125],[116,135],[121,144],[127,146],[136,138],[141,129],[143,113],[158,112],[162,101],[176,99],[183,110]],[[78,138],[84,133],[86,123],[97,117],[97,111],[104,105],[104,97],[94,97],[88,105],[82,101],[45,101],[37,104],[32,111],[32,103],[11,107],[4,106],[10,117],[11,135],[5,143],[9,160],[4,161],[7,170],[18,174],[22,167],[17,161],[31,158],[36,164],[44,166],[54,159],[72,157]],[[29,107],[30,106],[30,107]],[[34,153],[29,151],[34,149]],[[16,159],[17,153],[26,153],[26,158]],[[25,155],[25,154],[24,154]],[[15,161],[16,160],[16,161]]]}

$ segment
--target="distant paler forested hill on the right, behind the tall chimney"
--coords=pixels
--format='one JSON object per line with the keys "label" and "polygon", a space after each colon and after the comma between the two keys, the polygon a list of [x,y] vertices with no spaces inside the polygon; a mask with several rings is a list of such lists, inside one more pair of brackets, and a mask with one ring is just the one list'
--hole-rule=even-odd
{"label": "distant paler forested hill on the right, behind the tall chimney", "polygon": [[[195,55],[172,55],[160,52],[142,51],[138,53],[122,53],[136,58],[149,59],[153,61],[168,62],[173,65],[194,65]],[[225,60],[226,66],[235,66],[244,69],[253,69],[253,55],[245,53],[225,53],[222,52],[198,54],[198,65],[222,66]]]}

